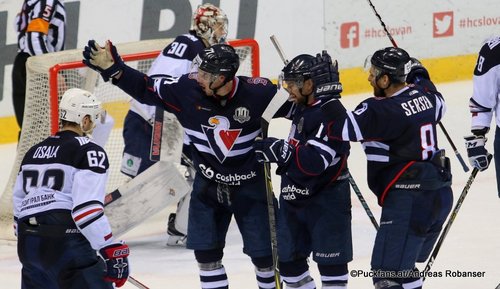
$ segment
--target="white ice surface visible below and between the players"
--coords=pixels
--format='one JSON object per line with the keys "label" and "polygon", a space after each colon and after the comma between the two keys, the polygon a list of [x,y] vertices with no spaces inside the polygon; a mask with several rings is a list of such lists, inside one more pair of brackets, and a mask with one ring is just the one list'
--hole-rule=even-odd
{"label": "white ice surface visible below and between the players", "polygon": [[[467,159],[463,145],[463,136],[468,135],[470,115],[468,99],[472,91],[470,81],[439,84],[444,94],[448,111],[443,120],[455,145]],[[369,94],[348,96],[342,99],[346,107],[353,109],[356,104]],[[271,136],[286,137],[289,123],[273,120],[270,126]],[[469,173],[465,173],[458,163],[451,146],[439,132],[440,146],[445,148],[452,161],[453,189],[455,200],[458,199]],[[491,149],[493,133],[490,132],[487,146]],[[490,150],[492,151],[492,150]],[[14,161],[15,145],[0,145],[4,165],[0,168],[0,184],[4,184],[10,174]],[[349,159],[351,173],[361,192],[366,198],[377,220],[380,209],[373,194],[366,186],[366,160],[359,144],[353,144]],[[274,185],[278,179],[274,178]],[[351,270],[370,268],[370,255],[375,237],[375,229],[366,216],[356,195],[353,198],[353,239],[354,260],[349,264]],[[150,288],[200,288],[198,269],[193,252],[183,248],[166,247],[167,215],[174,211],[169,207],[153,216],[139,228],[124,236],[131,247],[131,275]],[[465,199],[455,222],[444,241],[432,267],[432,271],[441,272],[441,278],[427,278],[424,288],[495,288],[500,282],[500,200],[496,192],[495,171],[491,167],[478,174]],[[16,243],[0,241],[0,280],[1,288],[20,288],[21,266],[16,255]],[[242,242],[237,227],[232,224],[227,236],[227,246],[223,259],[231,288],[257,288],[253,265],[242,253]],[[311,272],[318,288],[319,274],[313,262]],[[421,264],[419,268],[423,268]],[[464,278],[446,277],[446,272],[484,272],[484,277]],[[127,283],[122,288],[136,288]],[[372,288],[371,279],[350,277],[349,288]]]}

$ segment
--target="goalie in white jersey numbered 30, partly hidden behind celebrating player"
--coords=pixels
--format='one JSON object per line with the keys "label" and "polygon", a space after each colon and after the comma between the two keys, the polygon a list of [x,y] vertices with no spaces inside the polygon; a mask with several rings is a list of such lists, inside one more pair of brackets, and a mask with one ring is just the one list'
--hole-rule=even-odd
{"label": "goalie in white jersey numbered 30, partly hidden behind celebrating player", "polygon": [[[204,48],[216,43],[224,43],[227,36],[227,17],[220,8],[205,3],[199,5],[193,14],[189,33],[177,36],[172,43],[154,60],[148,75],[152,77],[181,76],[191,70],[193,59]],[[163,110],[161,110],[163,113]],[[125,148],[121,171],[135,177],[155,163],[150,159],[152,124],[155,106],[142,104],[135,99],[130,102],[130,110],[125,117],[123,140]],[[169,136],[164,136],[168,138]],[[140,141],[138,141],[140,140]],[[184,155],[189,159],[189,139],[184,139]],[[192,185],[194,169],[188,167],[186,179]],[[166,192],[167,193],[167,192]],[[190,194],[186,194],[177,206],[177,212],[168,218],[167,245],[185,245]]]}

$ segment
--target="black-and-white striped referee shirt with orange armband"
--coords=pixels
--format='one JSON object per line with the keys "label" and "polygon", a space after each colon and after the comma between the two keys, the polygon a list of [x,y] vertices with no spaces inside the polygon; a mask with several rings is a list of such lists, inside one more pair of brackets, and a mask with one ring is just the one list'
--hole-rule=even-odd
{"label": "black-and-white striped referee shirt with orange armband", "polygon": [[65,19],[60,0],[25,0],[15,23],[19,51],[33,56],[63,50]]}

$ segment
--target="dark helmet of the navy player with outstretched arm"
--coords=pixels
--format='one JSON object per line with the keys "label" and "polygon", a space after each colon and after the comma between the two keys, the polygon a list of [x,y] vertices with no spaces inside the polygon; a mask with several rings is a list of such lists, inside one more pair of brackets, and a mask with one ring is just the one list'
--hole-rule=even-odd
{"label": "dark helmet of the navy player with outstretched arm", "polygon": [[201,63],[199,68],[212,74],[224,75],[226,81],[232,80],[238,67],[240,58],[234,48],[227,44],[215,44],[200,52]]}

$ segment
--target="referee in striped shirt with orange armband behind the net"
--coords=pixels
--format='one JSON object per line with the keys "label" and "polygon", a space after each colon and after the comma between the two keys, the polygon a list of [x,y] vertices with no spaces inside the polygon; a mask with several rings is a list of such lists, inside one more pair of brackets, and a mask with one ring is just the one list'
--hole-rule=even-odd
{"label": "referee in striped shirt with orange armband behind the net", "polygon": [[[22,129],[28,57],[64,49],[66,11],[61,0],[24,0],[16,16],[18,54],[12,69],[12,103]],[[21,131],[19,131],[19,136]]]}

